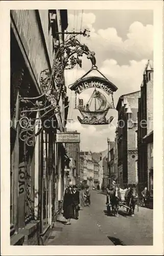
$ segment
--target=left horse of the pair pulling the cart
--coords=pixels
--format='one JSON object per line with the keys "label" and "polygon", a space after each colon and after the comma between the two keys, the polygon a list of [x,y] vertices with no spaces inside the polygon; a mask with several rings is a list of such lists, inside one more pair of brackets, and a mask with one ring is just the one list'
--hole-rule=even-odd
{"label": "left horse of the pair pulling the cart", "polygon": [[110,203],[112,208],[112,214],[116,217],[119,216],[119,201],[120,201],[120,193],[119,187],[115,187],[112,191],[109,192]]}

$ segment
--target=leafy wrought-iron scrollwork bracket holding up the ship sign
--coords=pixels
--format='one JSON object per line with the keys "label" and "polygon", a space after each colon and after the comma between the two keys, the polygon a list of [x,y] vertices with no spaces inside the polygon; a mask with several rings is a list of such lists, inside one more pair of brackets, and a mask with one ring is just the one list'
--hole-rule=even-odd
{"label": "leafy wrought-iron scrollwork bracket holding up the ship sign", "polygon": [[20,102],[24,108],[20,112],[20,139],[26,141],[27,145],[34,145],[33,138],[35,136],[35,124],[31,124],[27,114],[31,115],[38,112],[39,118],[43,121],[45,117],[50,120],[57,113],[61,114],[60,97],[66,97],[64,70],[73,69],[76,65],[82,67],[81,57],[84,54],[90,59],[92,66],[96,65],[95,52],[89,51],[88,47],[82,45],[75,36],[67,38],[55,54],[52,71],[45,69],[40,74],[39,83],[42,94],[38,97],[20,97]]}

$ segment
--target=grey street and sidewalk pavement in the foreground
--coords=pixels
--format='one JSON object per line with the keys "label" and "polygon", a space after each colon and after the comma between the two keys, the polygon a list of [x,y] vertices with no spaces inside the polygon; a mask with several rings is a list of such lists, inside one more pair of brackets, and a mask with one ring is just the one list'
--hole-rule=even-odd
{"label": "grey street and sidewalk pavement in the foreground", "polygon": [[48,245],[153,245],[152,209],[139,207],[130,217],[122,207],[119,217],[108,216],[105,195],[97,190],[90,194],[90,207],[84,207],[81,200],[79,220],[64,225],[61,216],[55,223]]}

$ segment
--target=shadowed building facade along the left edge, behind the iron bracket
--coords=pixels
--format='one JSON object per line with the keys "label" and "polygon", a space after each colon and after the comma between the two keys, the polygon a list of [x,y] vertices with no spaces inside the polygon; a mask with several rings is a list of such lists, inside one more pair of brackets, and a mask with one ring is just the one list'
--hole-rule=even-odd
{"label": "shadowed building facade along the left edge, behind the iron bracket", "polygon": [[10,17],[10,241],[11,245],[42,245],[63,199],[66,152],[62,143],[57,145],[55,134],[64,130],[68,102],[63,84],[55,129],[43,125],[52,113],[38,111],[44,101],[40,75],[52,70],[63,41],[57,32],[67,28],[67,12],[11,10]]}

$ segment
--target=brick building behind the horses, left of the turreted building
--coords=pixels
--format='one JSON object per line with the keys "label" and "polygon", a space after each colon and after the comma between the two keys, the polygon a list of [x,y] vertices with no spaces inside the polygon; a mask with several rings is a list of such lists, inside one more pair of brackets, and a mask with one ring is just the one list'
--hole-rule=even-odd
{"label": "brick building behind the horses, left of the turreted building", "polygon": [[137,182],[137,112],[140,91],[122,95],[118,111],[118,173],[121,186]]}

